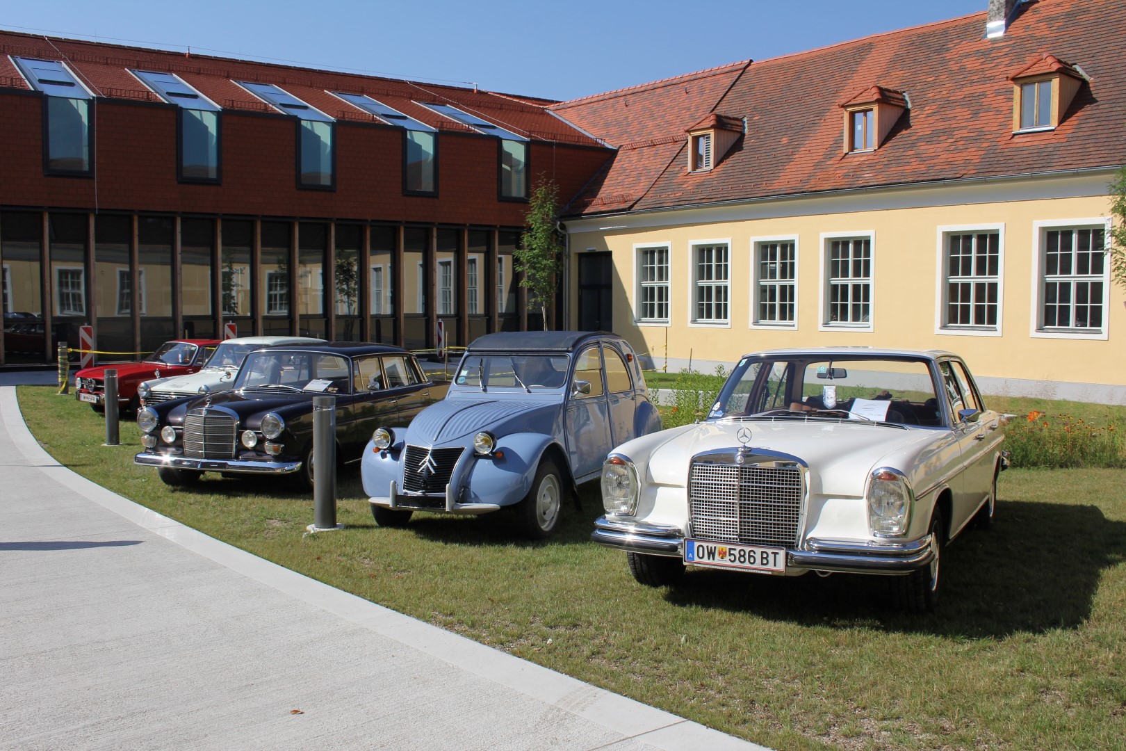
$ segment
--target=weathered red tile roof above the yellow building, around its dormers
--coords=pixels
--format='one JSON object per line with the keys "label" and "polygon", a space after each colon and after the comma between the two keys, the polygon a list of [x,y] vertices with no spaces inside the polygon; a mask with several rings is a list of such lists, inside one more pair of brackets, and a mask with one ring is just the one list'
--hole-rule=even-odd
{"label": "weathered red tile roof above the yellow building, around its dormers", "polygon": [[[554,105],[553,111],[611,145],[635,144],[618,152],[568,213],[1120,164],[1126,158],[1126,3],[1026,3],[999,39],[984,38],[985,16]],[[1031,65],[1053,65],[1049,60],[1081,66],[1090,83],[1054,131],[1013,133],[1009,77],[1037,70]],[[911,108],[879,149],[844,153],[840,104],[875,83],[904,92]],[[692,96],[685,91],[689,88],[696,89]],[[714,169],[689,175],[683,131],[711,111],[745,116],[747,134]],[[665,141],[678,133],[677,144]]]}

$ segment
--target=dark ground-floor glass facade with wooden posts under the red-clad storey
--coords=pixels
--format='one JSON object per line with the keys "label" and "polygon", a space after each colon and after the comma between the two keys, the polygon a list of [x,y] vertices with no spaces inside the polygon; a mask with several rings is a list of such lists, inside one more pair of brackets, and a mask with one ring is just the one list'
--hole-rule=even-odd
{"label": "dark ground-floor glass facade with wooden posts under the red-clad storey", "polygon": [[[44,225],[48,234],[41,242]],[[102,361],[136,359],[172,338],[222,338],[226,322],[242,337],[319,336],[430,349],[441,321],[446,346],[462,347],[521,327],[512,265],[519,234],[6,212],[3,364],[52,363],[55,342],[77,348],[84,324],[93,325],[95,348],[113,352],[99,356]],[[542,325],[531,319],[529,328]]]}

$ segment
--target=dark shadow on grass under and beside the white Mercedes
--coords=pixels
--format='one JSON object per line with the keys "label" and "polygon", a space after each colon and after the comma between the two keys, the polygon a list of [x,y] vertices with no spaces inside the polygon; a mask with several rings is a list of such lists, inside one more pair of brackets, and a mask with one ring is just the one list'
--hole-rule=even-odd
{"label": "dark shadow on grass under and beside the white Mercedes", "polygon": [[1124,560],[1126,522],[1093,506],[1001,501],[991,530],[967,529],[947,547],[942,599],[928,616],[897,613],[890,578],[854,574],[695,569],[665,599],[804,625],[1001,637],[1079,627],[1103,570]]}

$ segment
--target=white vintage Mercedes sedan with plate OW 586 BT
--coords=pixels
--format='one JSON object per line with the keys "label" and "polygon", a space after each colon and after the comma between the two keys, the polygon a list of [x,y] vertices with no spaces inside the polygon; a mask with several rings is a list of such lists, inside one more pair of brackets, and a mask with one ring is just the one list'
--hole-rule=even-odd
{"label": "white vintage Mercedes sedan with plate OW 586 BT", "polygon": [[928,613],[945,545],[993,521],[1002,419],[950,352],[747,355],[704,422],[610,453],[592,539],[643,584],[697,566],[887,574]]}

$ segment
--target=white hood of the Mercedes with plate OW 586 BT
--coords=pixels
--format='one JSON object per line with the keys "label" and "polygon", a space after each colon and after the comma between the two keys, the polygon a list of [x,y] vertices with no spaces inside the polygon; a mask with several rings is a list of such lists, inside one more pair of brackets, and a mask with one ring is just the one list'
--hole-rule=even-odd
{"label": "white hood of the Mercedes with plate OW 586 BT", "polygon": [[673,435],[652,448],[651,477],[661,484],[683,486],[691,457],[739,448],[742,444],[736,433],[741,428],[751,431],[748,448],[788,454],[804,462],[810,467],[812,492],[840,495],[863,494],[868,473],[877,466],[891,466],[918,480],[920,474],[937,467],[937,457],[932,457],[935,447],[949,435],[946,430],[903,429],[860,421],[703,422],[664,431]]}

